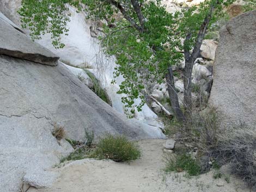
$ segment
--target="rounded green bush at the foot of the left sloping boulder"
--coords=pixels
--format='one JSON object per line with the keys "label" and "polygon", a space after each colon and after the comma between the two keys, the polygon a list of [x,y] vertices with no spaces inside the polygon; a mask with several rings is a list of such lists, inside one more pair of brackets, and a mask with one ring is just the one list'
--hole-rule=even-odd
{"label": "rounded green bush at the foot of the left sloping boulder", "polygon": [[115,162],[129,162],[141,156],[138,146],[124,136],[107,134],[96,145],[95,155]]}

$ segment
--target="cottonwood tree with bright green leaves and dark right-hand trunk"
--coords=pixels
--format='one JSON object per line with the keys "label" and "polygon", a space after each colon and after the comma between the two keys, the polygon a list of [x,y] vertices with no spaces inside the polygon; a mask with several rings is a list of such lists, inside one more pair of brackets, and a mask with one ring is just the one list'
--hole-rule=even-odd
{"label": "cottonwood tree with bright green leaves and dark right-hand trunk", "polygon": [[[64,46],[61,35],[68,33],[71,6],[84,11],[91,20],[106,21],[99,29],[99,39],[105,53],[117,58],[114,77],[124,77],[118,93],[126,94],[122,97],[125,106],[141,110],[147,83],[166,80],[173,112],[178,121],[184,122],[190,115],[184,112],[192,110],[192,69],[206,30],[221,15],[223,6],[232,1],[206,0],[197,7],[170,14],[160,0],[23,0],[19,13],[23,27],[30,29],[33,39],[51,33],[56,48]],[[116,20],[115,14],[121,14],[123,19]],[[172,70],[182,59],[185,111],[179,105]],[[136,98],[142,100],[138,106]]]}

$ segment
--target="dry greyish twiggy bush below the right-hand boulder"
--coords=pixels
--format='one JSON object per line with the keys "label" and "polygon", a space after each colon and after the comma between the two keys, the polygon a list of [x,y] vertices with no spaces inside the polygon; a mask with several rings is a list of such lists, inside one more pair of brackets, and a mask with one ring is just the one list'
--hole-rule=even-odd
{"label": "dry greyish twiggy bush below the right-hand boulder", "polygon": [[256,190],[256,132],[244,124],[229,127],[217,135],[217,143],[209,149],[209,156],[221,164],[230,164],[231,174],[245,180]]}

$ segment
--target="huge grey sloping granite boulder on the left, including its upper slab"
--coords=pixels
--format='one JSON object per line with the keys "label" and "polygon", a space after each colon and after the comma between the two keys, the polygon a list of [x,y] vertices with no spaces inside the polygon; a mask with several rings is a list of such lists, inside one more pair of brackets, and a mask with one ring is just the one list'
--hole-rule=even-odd
{"label": "huge grey sloping granite boulder on the left, including its upper slab", "polygon": [[0,31],[0,191],[19,191],[23,180],[44,187],[57,177],[47,170],[72,147],[53,137],[54,122],[74,140],[84,140],[84,128],[96,137],[108,132],[164,138],[159,128],[116,112],[65,65],[57,65],[53,53],[1,18]]}

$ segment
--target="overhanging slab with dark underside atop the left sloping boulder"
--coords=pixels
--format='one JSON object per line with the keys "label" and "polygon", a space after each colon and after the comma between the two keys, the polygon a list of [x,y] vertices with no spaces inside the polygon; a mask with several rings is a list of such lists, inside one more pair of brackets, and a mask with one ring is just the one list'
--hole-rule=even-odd
{"label": "overhanging slab with dark underside atop the left sloping boulder", "polygon": [[0,54],[45,65],[56,66],[58,64],[59,58],[56,55],[27,38],[19,30],[14,30],[14,26],[11,26],[1,15]]}

